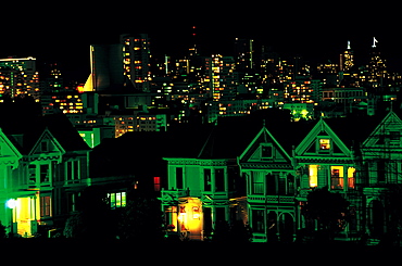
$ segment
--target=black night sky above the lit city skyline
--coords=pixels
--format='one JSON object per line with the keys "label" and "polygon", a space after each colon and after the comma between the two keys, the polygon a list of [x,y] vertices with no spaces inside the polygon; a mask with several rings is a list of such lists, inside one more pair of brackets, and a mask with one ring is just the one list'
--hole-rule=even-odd
{"label": "black night sky above the lit city skyline", "polygon": [[[369,5],[367,5],[369,4]],[[392,69],[402,72],[400,36],[402,23],[397,7],[364,7],[346,3],[315,7],[307,2],[248,2],[244,7],[194,7],[172,3],[142,5],[96,4],[77,7],[5,7],[0,21],[0,56],[36,56],[39,62],[58,62],[70,77],[85,81],[89,74],[89,46],[118,42],[120,34],[145,33],[151,38],[152,54],[183,54],[198,27],[203,55],[231,55],[236,37],[253,38],[280,55],[338,60],[351,40],[356,60],[367,56],[373,37]],[[152,4],[150,4],[152,5]],[[128,8],[130,7],[130,8]],[[181,10],[178,10],[181,8]],[[10,12],[5,12],[10,10]],[[392,71],[391,69],[391,71]]]}

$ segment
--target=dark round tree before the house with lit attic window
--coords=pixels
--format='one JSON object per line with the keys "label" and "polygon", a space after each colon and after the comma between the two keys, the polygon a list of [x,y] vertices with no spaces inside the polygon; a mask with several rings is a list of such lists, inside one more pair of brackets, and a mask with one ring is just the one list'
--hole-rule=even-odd
{"label": "dark round tree before the house with lit attic window", "polygon": [[303,207],[306,220],[316,220],[322,240],[332,240],[334,235],[344,229],[350,203],[340,194],[332,193],[328,187],[315,188],[307,195]]}

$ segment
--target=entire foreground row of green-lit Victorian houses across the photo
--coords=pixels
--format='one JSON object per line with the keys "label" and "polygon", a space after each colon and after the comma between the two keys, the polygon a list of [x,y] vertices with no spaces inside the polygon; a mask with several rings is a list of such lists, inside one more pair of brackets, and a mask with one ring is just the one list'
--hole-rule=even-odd
{"label": "entire foreground row of green-lit Victorian houses across the photo", "polygon": [[324,187],[351,203],[339,238],[379,239],[394,221],[387,192],[402,182],[402,121],[392,111],[305,123],[267,112],[128,132],[95,149],[64,115],[0,128],[0,221],[23,237],[62,228],[88,186],[105,185],[111,207],[124,207],[128,187],[148,181],[167,232],[191,240],[241,220],[254,242],[293,241],[310,226],[309,192]]}

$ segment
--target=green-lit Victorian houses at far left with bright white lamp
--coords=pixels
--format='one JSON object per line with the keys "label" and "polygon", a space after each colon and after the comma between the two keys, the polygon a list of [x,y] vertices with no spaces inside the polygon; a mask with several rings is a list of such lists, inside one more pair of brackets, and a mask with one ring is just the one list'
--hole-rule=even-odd
{"label": "green-lit Victorian houses at far left with bright white lamp", "polygon": [[61,226],[90,185],[90,149],[64,115],[20,117],[0,130],[0,220],[32,237]]}

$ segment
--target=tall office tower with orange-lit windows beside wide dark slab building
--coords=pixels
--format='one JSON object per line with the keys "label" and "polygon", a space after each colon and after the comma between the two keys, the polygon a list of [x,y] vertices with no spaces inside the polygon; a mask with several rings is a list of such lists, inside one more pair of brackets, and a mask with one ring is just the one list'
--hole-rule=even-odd
{"label": "tall office tower with orange-lit windows beside wide dark slab building", "polygon": [[147,34],[122,35],[123,74],[143,92],[150,89],[150,40]]}

